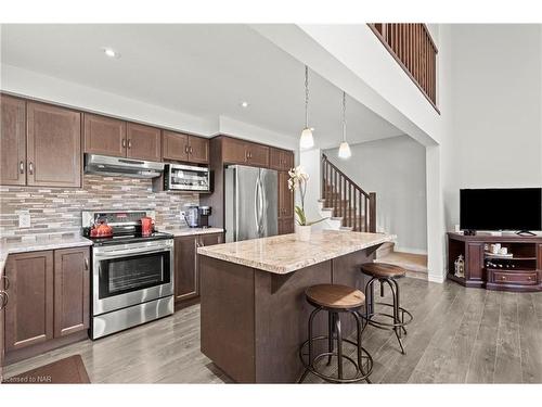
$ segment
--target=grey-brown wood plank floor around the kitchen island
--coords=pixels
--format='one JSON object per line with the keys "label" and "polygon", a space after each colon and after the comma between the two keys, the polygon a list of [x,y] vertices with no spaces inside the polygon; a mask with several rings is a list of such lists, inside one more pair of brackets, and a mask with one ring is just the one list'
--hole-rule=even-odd
{"label": "grey-brown wood plank floor around the kitchen island", "polygon": [[[367,327],[363,345],[375,360],[373,383],[542,383],[542,293],[413,278],[400,285],[402,305],[414,315],[404,336],[406,355],[400,354],[392,333]],[[8,366],[4,373],[18,374],[75,354],[81,355],[93,383],[230,382],[199,352],[198,305]],[[309,374],[306,382],[321,380]]]}

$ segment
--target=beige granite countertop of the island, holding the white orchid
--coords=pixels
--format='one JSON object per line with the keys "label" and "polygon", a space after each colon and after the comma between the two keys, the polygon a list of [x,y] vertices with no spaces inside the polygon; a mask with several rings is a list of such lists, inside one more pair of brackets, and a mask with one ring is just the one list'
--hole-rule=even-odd
{"label": "beige granite countertop of the island, holding the white orchid", "polygon": [[204,256],[285,275],[396,239],[384,233],[361,233],[340,230],[313,231],[309,242],[296,234],[245,240],[242,242],[198,247]]}

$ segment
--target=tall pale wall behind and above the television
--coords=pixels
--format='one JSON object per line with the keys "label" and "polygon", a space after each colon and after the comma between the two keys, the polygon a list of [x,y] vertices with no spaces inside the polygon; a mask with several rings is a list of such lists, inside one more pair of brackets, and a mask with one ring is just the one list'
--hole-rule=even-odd
{"label": "tall pale wall behind and above the television", "polygon": [[447,228],[461,188],[542,186],[540,25],[452,25]]}

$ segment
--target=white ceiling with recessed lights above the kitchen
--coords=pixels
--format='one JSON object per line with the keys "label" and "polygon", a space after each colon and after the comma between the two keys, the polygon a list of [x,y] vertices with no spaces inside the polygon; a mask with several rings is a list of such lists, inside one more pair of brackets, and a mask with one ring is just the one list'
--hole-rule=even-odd
{"label": "white ceiling with recessed lights above the kitchen", "polygon": [[[3,63],[170,110],[295,138],[304,127],[304,65],[247,25],[2,25],[1,46]],[[310,75],[318,145],[338,145],[341,91]],[[347,112],[352,143],[402,133],[352,99]]]}

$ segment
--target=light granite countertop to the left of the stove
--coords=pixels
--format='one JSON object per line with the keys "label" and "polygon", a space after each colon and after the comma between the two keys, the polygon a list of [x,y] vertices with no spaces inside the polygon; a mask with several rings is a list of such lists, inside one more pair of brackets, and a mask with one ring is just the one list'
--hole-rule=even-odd
{"label": "light granite countertop to the left of the stove", "polygon": [[90,246],[92,242],[78,234],[44,234],[25,237],[21,241],[0,242],[0,268],[3,269],[9,254],[38,252],[41,250],[55,250],[66,247]]}

